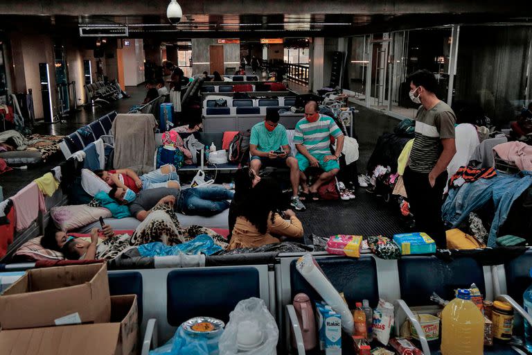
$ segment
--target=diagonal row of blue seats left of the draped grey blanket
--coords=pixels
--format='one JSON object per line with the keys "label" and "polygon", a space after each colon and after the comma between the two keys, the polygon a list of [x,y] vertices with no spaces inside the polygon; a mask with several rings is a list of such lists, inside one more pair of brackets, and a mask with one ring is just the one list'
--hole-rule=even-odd
{"label": "diagonal row of blue seats left of the draped grey blanket", "polygon": [[[96,121],[89,123],[84,128],[80,128],[76,132],[64,137],[59,144],[64,158],[69,159],[73,153],[76,153],[78,150],[83,150],[83,148],[100,137],[109,135],[116,115],[116,111],[109,112]],[[85,134],[80,134],[80,130],[83,130]]]}

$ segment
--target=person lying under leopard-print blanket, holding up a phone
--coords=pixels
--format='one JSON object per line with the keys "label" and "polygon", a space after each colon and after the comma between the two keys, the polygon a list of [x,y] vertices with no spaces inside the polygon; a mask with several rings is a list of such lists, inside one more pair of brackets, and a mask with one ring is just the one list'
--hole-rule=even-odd
{"label": "person lying under leopard-print blanket, holding up a phone", "polygon": [[[181,228],[177,215],[168,205],[160,205],[154,208],[152,213],[136,227],[133,234],[115,235],[114,230],[109,225],[104,225],[101,234],[98,228],[91,230],[90,238],[74,238],[67,233],[57,230],[47,230],[43,243],[45,248],[59,250],[63,252],[66,259],[114,259],[122,254],[139,256],[139,245],[147,243],[161,242],[164,245],[180,245],[192,241],[196,236],[206,234],[219,249],[225,249],[227,242],[220,234],[209,228],[191,225]],[[153,249],[153,248],[152,248]],[[161,250],[161,248],[156,248]],[[210,251],[218,248],[209,249]],[[159,251],[164,252],[164,251]],[[172,252],[172,249],[166,252]],[[179,252],[179,248],[175,248]],[[154,256],[154,255],[152,255]]]}

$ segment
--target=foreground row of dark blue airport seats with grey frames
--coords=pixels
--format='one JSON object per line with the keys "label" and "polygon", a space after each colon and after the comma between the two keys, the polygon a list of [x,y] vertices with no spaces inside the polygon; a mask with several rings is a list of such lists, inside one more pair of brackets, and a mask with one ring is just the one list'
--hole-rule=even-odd
{"label": "foreground row of dark blue airport seats with grey frames", "polygon": [[[279,254],[260,262],[254,260],[256,257],[241,255],[238,265],[232,266],[109,271],[110,291],[112,295],[134,293],[139,296],[142,329],[146,329],[149,318],[154,318],[159,343],[166,342],[176,327],[189,318],[204,315],[227,322],[229,313],[240,300],[259,297],[277,320],[281,349],[288,349],[291,327],[296,322],[291,306],[293,297],[306,293],[312,302],[321,297],[296,270],[299,255]],[[454,289],[469,288],[475,283],[486,300],[515,300],[522,304],[522,294],[532,284],[529,277],[532,250],[495,266],[484,266],[470,255],[454,256],[449,260],[406,256],[397,261],[378,259],[371,254],[363,254],[359,259],[323,253],[314,253],[314,257],[331,284],[344,293],[350,309],[363,299],[369,300],[372,307],[377,306],[379,298],[394,303],[396,331],[407,317],[416,324],[411,308],[423,307],[427,311],[427,306],[433,304],[429,300],[433,292],[452,300]],[[207,257],[207,265],[227,265],[215,259],[224,257]],[[296,338],[298,335],[296,329]],[[147,334],[147,339],[151,338],[151,334]],[[438,345],[437,341],[418,343],[427,355],[436,354]],[[303,349],[298,347],[297,350],[298,354],[305,354]],[[504,345],[495,345],[485,348],[484,354],[517,352]]]}

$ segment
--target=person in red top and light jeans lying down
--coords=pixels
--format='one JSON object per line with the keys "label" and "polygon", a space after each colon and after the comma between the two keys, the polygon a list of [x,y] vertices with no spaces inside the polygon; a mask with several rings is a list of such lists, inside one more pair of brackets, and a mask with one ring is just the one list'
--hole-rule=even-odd
{"label": "person in red top and light jeans lying down", "polygon": [[136,175],[131,169],[116,170],[95,170],[94,173],[110,187],[121,187],[131,189],[134,193],[141,190],[155,189],[157,187],[170,187],[179,189],[179,176],[175,171],[175,166],[166,164],[157,170],[150,171],[144,175]]}

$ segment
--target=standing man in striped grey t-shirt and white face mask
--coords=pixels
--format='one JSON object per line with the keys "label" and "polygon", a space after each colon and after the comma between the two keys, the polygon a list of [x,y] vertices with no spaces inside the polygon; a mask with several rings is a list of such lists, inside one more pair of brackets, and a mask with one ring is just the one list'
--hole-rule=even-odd
{"label": "standing man in striped grey t-shirt and white face mask", "polygon": [[434,74],[425,69],[409,78],[410,98],[420,103],[416,115],[416,137],[403,179],[410,211],[416,218],[418,232],[426,232],[438,248],[446,248],[445,226],[441,219],[443,189],[447,182],[447,165],[456,153],[451,107],[440,101],[434,92]]}

